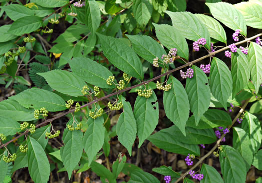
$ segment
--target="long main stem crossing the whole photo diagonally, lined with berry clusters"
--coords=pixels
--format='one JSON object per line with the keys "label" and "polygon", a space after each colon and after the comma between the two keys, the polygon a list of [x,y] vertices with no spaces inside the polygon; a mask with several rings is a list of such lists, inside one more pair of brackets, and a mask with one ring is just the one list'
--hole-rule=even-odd
{"label": "long main stem crossing the whole photo diagonally, lined with berry clusters", "polygon": [[[259,37],[259,36],[262,36],[262,33],[259,33],[259,34],[255,35],[255,36],[252,36],[252,37],[250,37],[250,38],[248,38],[248,39],[245,39],[245,40],[240,41],[240,42],[235,43],[235,44],[236,44],[236,45],[239,45],[239,44],[248,42],[248,41],[250,41],[250,40],[252,40],[252,39],[255,39],[255,38]],[[120,94],[120,93],[122,93],[122,92],[131,90],[131,89],[136,88],[136,87],[138,87],[138,86],[147,84],[147,83],[149,83],[149,82],[151,82],[151,81],[154,81],[154,80],[157,80],[157,79],[161,78],[162,76],[169,75],[169,74],[171,74],[172,72],[175,72],[175,71],[180,70],[180,69],[182,69],[182,68],[184,68],[184,67],[187,67],[187,66],[192,65],[192,64],[194,64],[194,63],[196,63],[196,62],[199,62],[199,61],[201,61],[201,60],[203,60],[203,59],[205,59],[205,58],[208,58],[208,57],[210,57],[210,56],[213,56],[213,55],[215,55],[215,54],[217,54],[217,53],[219,53],[219,52],[221,52],[221,51],[224,51],[224,50],[226,50],[226,49],[228,49],[228,48],[229,48],[229,46],[227,46],[227,47],[225,47],[225,48],[221,48],[221,49],[219,49],[219,50],[217,50],[217,51],[215,51],[215,52],[211,52],[211,53],[209,53],[209,54],[207,54],[207,55],[205,55],[205,56],[202,56],[202,57],[200,57],[200,58],[198,58],[198,59],[196,59],[196,60],[193,60],[192,62],[188,62],[187,64],[184,64],[184,65],[182,65],[182,66],[180,66],[180,67],[177,67],[177,68],[175,68],[175,69],[173,69],[173,70],[167,71],[167,72],[164,73],[164,74],[161,74],[161,75],[159,75],[159,76],[156,76],[156,77],[154,77],[154,78],[152,78],[152,79],[150,79],[150,80],[148,80],[148,81],[141,82],[141,83],[139,83],[139,84],[137,84],[137,85],[134,85],[134,86],[125,88],[125,89],[123,89],[123,90],[119,90],[119,91],[117,91],[117,92],[111,93],[111,94],[106,95],[106,96],[104,96],[104,97],[101,97],[101,98],[99,98],[99,99],[93,100],[93,101],[91,101],[91,102],[89,102],[89,103],[87,103],[87,104],[85,104],[85,105],[82,105],[80,108],[89,106],[89,105],[91,105],[91,104],[93,104],[93,103],[99,102],[99,101],[104,100],[104,99],[106,99],[106,98],[109,98],[109,97],[111,97],[111,96],[113,96],[113,95],[118,95],[118,94]],[[46,124],[46,123],[48,123],[48,122],[52,122],[53,120],[56,120],[56,119],[58,119],[58,118],[61,118],[62,116],[65,116],[65,115],[67,115],[67,114],[69,114],[69,113],[72,113],[72,112],[74,112],[74,109],[73,109],[73,110],[69,110],[69,111],[67,111],[67,112],[64,112],[64,113],[62,113],[62,114],[60,114],[60,115],[58,115],[58,116],[56,116],[56,117],[53,117],[53,118],[51,118],[51,119],[48,119],[48,120],[46,120],[46,121],[44,121],[44,122],[36,125],[35,127],[37,128],[37,127],[39,127],[39,126],[41,126],[41,125],[43,125],[43,124]],[[4,146],[7,146],[9,143],[13,142],[14,140],[18,139],[19,137],[21,137],[22,135],[24,135],[24,134],[26,134],[26,133],[28,133],[28,131],[25,131],[24,133],[18,135],[17,137],[13,138],[12,140],[8,141],[7,143],[1,145],[0,148],[3,148]]]}

